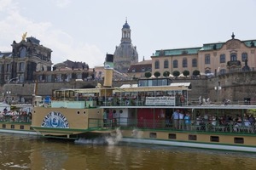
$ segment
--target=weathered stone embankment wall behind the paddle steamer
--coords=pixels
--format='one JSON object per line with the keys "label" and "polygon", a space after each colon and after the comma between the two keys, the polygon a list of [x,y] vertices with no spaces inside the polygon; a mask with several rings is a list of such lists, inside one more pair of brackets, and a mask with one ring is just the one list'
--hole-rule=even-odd
{"label": "weathered stone embankment wall behind the paddle steamer", "polygon": [[[222,75],[213,78],[182,78],[173,79],[173,82],[191,82],[192,90],[189,91],[190,99],[210,98],[211,101],[221,102],[224,99],[231,101],[242,101],[244,98],[250,98],[251,101],[256,100],[256,71],[236,72],[232,74]],[[51,96],[52,91],[61,88],[88,88],[96,87],[97,83],[103,82],[38,82],[38,95]],[[137,81],[113,81],[114,87],[119,87],[122,84],[134,84]],[[220,86],[221,89],[215,90],[215,87]],[[11,92],[11,96],[25,98],[26,101],[32,99],[34,94],[35,83],[10,83],[5,84],[0,88],[2,101],[5,98],[7,91]]]}

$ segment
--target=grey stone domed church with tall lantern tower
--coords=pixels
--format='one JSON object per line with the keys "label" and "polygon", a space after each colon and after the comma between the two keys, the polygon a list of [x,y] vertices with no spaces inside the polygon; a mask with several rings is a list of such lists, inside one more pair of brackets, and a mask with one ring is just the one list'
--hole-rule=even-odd
{"label": "grey stone domed church with tall lantern tower", "polygon": [[138,62],[137,47],[131,43],[131,29],[125,21],[122,28],[122,39],[119,46],[116,46],[113,54],[113,69],[121,73],[126,73],[132,64]]}

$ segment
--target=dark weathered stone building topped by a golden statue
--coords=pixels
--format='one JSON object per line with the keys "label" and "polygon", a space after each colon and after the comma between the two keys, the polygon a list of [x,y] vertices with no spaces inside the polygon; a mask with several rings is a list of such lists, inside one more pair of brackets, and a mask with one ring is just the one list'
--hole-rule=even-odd
{"label": "dark weathered stone building topped by a golden statue", "polygon": [[0,83],[12,80],[32,82],[34,71],[51,70],[51,52],[35,37],[22,36],[20,42],[12,43],[12,52],[0,53]]}

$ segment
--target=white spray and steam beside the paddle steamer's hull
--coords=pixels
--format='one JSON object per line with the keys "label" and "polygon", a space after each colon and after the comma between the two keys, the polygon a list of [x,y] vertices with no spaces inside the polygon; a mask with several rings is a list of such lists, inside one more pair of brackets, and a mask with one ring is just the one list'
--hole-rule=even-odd
{"label": "white spray and steam beside the paddle steamer's hull", "polygon": [[113,133],[110,133],[106,136],[101,136],[95,139],[78,139],[75,140],[75,144],[108,144],[108,145],[114,145],[118,144],[119,141],[121,141],[123,138],[123,135],[120,131],[120,128],[116,128]]}

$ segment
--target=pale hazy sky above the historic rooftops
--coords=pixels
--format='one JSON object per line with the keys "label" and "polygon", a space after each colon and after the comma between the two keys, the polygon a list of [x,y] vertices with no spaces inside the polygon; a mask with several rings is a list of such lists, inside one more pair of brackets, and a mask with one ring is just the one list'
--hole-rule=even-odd
{"label": "pale hazy sky above the historic rooftops", "polygon": [[0,51],[36,37],[67,59],[102,65],[121,40],[127,19],[139,61],[155,50],[201,47],[231,38],[256,39],[256,0],[0,0]]}

